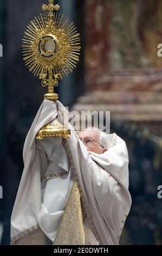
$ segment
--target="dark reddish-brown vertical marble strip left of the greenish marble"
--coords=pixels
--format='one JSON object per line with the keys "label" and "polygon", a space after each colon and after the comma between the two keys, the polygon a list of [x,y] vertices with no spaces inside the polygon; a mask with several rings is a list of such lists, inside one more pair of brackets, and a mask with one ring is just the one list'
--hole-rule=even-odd
{"label": "dark reddish-brown vertical marble strip left of the greenish marble", "polygon": [[97,80],[110,68],[111,9],[105,0],[85,4],[85,83],[86,90],[98,88]]}

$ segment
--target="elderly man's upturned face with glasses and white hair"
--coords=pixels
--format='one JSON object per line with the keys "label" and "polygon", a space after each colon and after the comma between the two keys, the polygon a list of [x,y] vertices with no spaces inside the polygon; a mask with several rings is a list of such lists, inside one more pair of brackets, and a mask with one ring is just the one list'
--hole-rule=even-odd
{"label": "elderly man's upturned face with glasses and white hair", "polygon": [[91,151],[97,154],[102,154],[105,151],[107,151],[107,149],[101,147],[99,131],[85,130],[85,131],[81,131],[78,136],[82,142],[83,141],[85,142],[84,144],[88,151]]}

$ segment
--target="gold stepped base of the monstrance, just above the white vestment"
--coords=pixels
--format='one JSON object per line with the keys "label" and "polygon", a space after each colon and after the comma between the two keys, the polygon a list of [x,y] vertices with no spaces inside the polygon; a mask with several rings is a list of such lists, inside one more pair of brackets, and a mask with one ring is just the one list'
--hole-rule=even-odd
{"label": "gold stepped base of the monstrance, just above the white vestment", "polygon": [[36,139],[43,139],[44,137],[57,137],[62,136],[63,138],[70,137],[70,130],[66,129],[63,125],[59,123],[57,119],[53,122],[44,126],[36,136]]}

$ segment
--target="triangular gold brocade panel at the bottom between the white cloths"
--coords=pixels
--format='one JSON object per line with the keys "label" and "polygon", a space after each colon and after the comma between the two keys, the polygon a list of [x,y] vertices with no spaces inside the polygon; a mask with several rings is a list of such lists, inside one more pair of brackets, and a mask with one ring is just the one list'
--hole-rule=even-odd
{"label": "triangular gold brocade panel at the bottom between the white cloths", "polygon": [[53,245],[85,245],[81,197],[74,181]]}

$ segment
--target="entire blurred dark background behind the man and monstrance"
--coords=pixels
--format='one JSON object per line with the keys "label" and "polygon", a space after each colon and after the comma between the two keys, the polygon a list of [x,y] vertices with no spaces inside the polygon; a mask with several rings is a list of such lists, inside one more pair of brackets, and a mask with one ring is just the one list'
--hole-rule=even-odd
{"label": "entire blurred dark background behind the man and monstrance", "polygon": [[[121,245],[162,244],[161,0],[60,0],[81,33],[81,60],[57,89],[76,111],[111,111],[111,133],[129,152],[132,208]],[[47,0],[0,1],[0,244],[10,243],[10,217],[23,171],[27,132],[46,89],[22,60],[22,37]]]}

